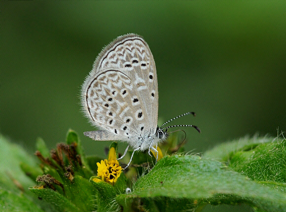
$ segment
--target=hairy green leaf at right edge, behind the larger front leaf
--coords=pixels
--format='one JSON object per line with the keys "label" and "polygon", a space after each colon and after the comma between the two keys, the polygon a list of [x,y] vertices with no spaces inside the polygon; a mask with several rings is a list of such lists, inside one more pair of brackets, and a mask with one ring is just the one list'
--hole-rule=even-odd
{"label": "hairy green leaf at right edge, behind the larger front leaf", "polygon": [[225,153],[220,153],[220,161],[234,171],[277,190],[286,191],[286,140],[275,140],[255,137],[240,139],[220,144],[205,155],[214,157],[220,149],[220,152]]}

